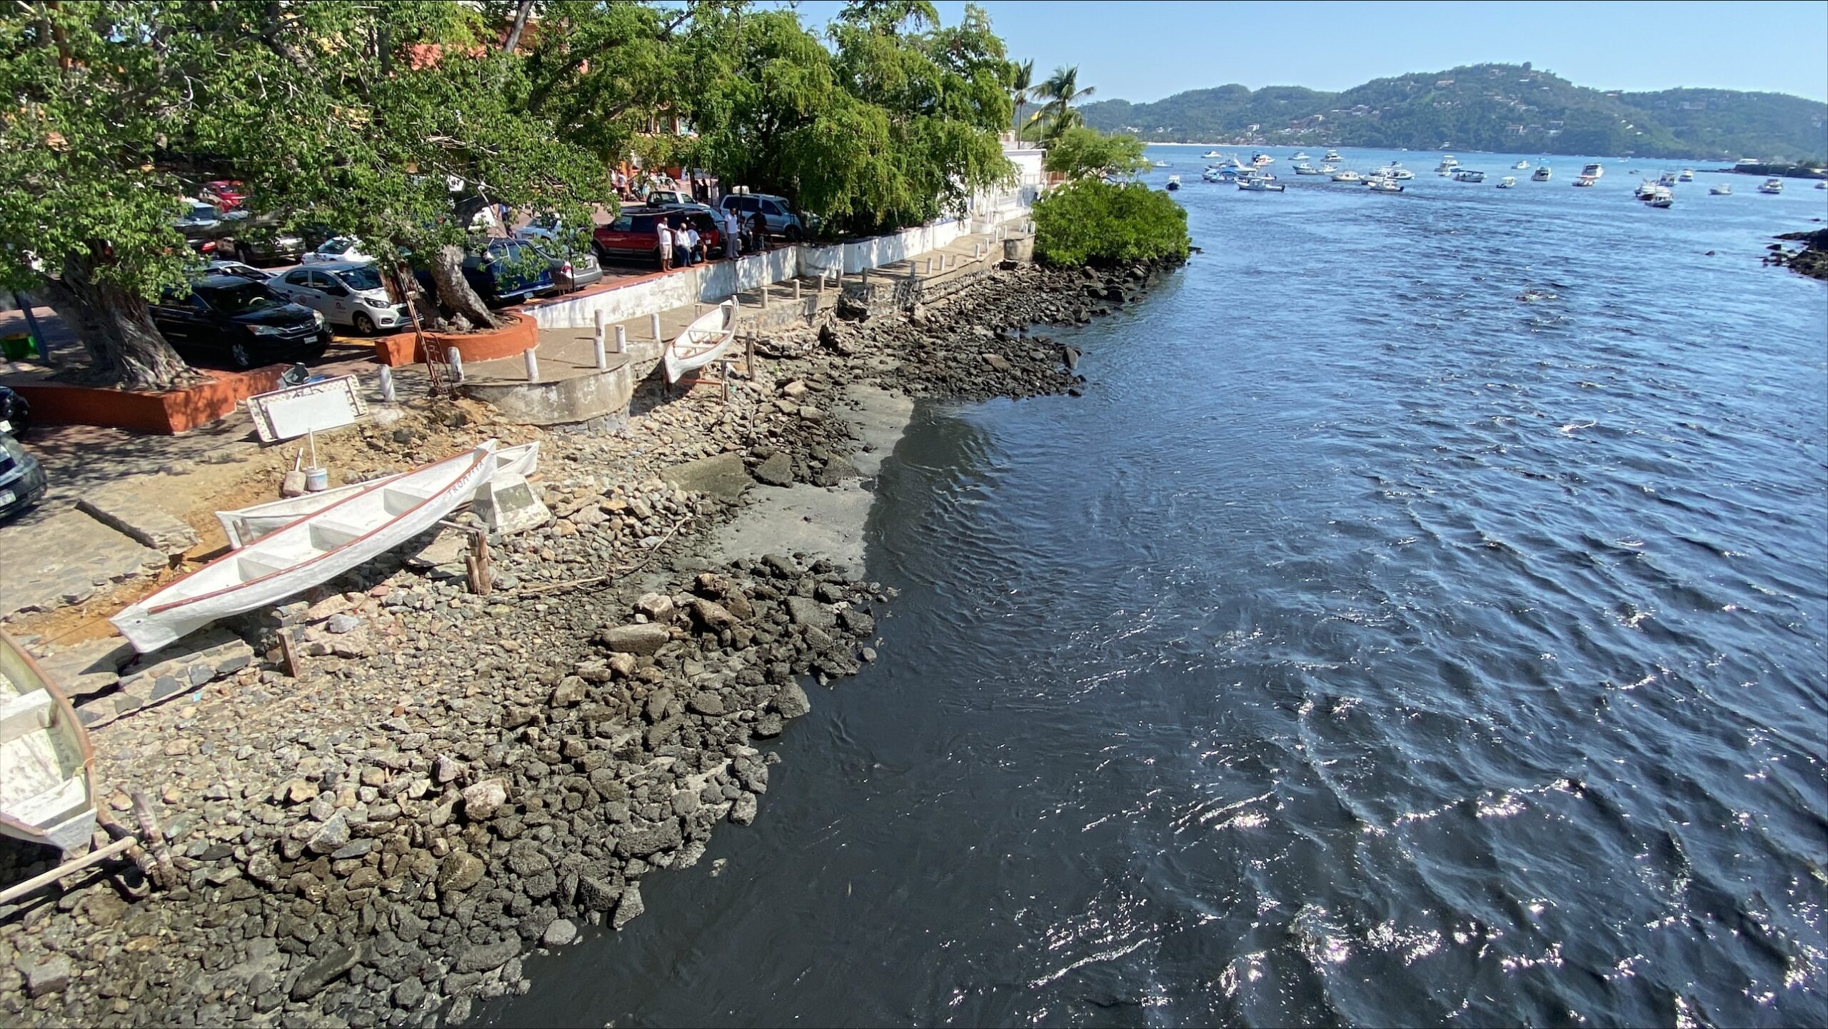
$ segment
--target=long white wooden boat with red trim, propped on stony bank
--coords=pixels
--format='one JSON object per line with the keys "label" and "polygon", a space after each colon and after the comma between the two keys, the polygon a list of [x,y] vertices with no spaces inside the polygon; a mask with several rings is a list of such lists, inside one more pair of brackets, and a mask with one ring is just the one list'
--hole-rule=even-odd
{"label": "long white wooden boat with red trim, propped on stony bank", "polygon": [[155,651],[218,618],[278,603],[431,528],[495,473],[495,440],[386,483],[367,483],[177,579],[110,618],[139,652]]}

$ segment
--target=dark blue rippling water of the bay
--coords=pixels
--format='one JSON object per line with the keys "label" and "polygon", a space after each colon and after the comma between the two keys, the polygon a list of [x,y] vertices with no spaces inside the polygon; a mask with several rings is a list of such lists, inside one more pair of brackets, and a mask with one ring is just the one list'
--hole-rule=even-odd
{"label": "dark blue rippling water of the bay", "polygon": [[1404,157],[1190,181],[1088,397],[921,409],[881,660],[484,1018],[1828,1022],[1828,197]]}

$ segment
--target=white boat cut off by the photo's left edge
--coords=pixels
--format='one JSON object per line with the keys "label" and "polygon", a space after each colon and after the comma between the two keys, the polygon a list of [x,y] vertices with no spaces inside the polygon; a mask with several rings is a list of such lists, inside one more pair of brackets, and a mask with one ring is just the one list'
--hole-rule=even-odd
{"label": "white boat cut off by the photo's left edge", "polygon": [[0,833],[60,850],[95,832],[95,751],[69,700],[0,632]]}

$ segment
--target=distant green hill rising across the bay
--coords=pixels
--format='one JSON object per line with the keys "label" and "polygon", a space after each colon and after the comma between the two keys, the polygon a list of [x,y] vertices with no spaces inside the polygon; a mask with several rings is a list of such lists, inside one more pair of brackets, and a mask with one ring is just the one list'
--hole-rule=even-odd
{"label": "distant green hill rising across the bay", "polygon": [[1093,128],[1150,143],[1764,161],[1828,155],[1828,104],[1735,90],[1601,91],[1528,64],[1375,79],[1344,93],[1234,84],[1153,104],[1099,101],[1080,113]]}

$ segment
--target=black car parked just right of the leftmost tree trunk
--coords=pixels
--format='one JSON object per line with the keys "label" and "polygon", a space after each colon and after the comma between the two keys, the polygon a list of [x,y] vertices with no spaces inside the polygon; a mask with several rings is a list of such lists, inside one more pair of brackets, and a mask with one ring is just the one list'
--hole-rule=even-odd
{"label": "black car parked just right of the leftmost tree trunk", "polygon": [[322,313],[236,276],[205,276],[190,292],[166,292],[152,305],[152,324],[186,358],[234,367],[316,358],[331,344]]}

